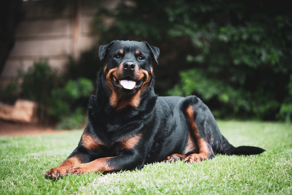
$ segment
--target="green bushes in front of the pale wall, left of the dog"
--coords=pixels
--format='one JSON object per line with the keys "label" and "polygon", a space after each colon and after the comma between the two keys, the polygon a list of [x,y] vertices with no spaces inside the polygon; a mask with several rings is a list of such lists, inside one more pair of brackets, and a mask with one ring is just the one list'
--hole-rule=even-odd
{"label": "green bushes in front of the pale wall, left of the dog", "polygon": [[[27,72],[20,71],[19,77],[23,79],[21,96],[39,103],[41,122],[48,122],[53,116],[59,120],[57,129],[81,128],[81,123],[86,121],[88,98],[94,90],[91,80],[67,80],[64,87],[58,87],[64,82],[63,75],[58,77],[47,61],[35,62]],[[11,97],[15,87],[11,83],[4,94]]]}

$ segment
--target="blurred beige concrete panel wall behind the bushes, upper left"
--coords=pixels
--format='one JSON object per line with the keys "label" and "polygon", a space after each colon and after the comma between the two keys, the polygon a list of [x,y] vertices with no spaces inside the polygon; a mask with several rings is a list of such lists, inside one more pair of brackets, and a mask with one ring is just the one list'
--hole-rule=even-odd
{"label": "blurred beige concrete panel wall behind the bushes, upper left", "polygon": [[[61,13],[55,13],[46,1],[23,3],[25,17],[18,25],[16,42],[0,76],[4,87],[17,76],[17,70],[27,70],[34,61],[48,59],[62,71],[68,56],[77,59],[81,51],[91,49],[98,40],[92,28],[97,8],[89,1],[68,1]],[[117,1],[104,1],[111,8]]]}

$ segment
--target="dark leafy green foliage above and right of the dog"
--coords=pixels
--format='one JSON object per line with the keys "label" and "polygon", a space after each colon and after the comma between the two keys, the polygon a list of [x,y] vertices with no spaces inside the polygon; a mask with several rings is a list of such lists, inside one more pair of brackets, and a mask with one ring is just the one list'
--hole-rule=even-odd
{"label": "dark leafy green foliage above and right of the dog", "polygon": [[[167,83],[158,85],[161,94],[167,90],[169,95],[195,94],[221,118],[289,121],[291,5],[291,1],[121,1],[113,11],[100,8],[96,27],[103,32],[100,44],[118,38],[162,45],[159,63],[172,80],[158,71],[157,83]],[[102,23],[105,16],[114,18],[111,26]],[[179,59],[179,64],[171,59]],[[178,82],[173,72],[178,75],[179,69],[185,71]]]}

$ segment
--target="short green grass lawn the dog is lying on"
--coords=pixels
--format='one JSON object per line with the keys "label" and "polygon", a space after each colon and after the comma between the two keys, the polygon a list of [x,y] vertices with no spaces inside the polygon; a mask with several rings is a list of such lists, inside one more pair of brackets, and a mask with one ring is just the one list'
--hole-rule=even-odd
{"label": "short green grass lawn the dog is lying on", "polygon": [[0,194],[291,194],[292,125],[219,121],[234,146],[266,151],[216,155],[201,163],[154,163],[142,170],[44,178],[75,149],[82,131],[0,137]]}

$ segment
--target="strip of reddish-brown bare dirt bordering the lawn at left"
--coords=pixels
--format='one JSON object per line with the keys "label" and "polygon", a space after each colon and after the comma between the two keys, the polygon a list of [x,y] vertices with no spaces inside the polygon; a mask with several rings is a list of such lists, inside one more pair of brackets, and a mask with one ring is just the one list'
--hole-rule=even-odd
{"label": "strip of reddish-brown bare dirt bordering the lawn at left", "polygon": [[65,133],[68,130],[55,130],[52,126],[25,124],[0,120],[0,136],[26,136]]}

